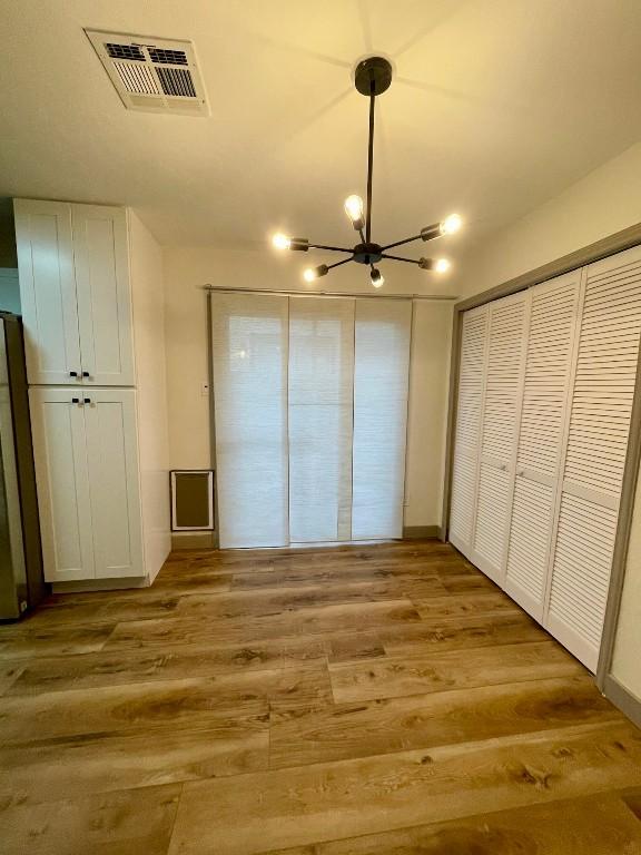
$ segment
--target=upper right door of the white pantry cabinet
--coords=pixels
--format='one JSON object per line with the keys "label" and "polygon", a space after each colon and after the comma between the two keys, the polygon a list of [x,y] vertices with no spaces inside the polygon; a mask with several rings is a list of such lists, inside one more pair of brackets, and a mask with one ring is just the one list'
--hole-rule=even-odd
{"label": "upper right door of the white pantry cabinet", "polygon": [[126,212],[102,205],[71,207],[82,382],[134,385]]}

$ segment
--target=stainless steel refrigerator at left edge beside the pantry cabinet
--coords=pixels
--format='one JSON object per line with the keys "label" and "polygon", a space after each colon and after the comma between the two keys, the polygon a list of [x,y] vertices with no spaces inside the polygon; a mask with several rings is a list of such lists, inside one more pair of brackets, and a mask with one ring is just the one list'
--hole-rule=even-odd
{"label": "stainless steel refrigerator at left edge beside the pantry cabinet", "polygon": [[42,574],[22,322],[0,312],[0,620],[48,593]]}

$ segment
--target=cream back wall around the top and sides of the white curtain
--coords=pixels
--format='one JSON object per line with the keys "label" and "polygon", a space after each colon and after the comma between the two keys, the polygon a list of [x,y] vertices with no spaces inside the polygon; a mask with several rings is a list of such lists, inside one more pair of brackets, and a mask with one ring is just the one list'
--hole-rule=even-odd
{"label": "cream back wall around the top and sides of the white curtain", "polygon": [[[206,283],[248,288],[309,292],[300,285],[306,257],[257,250],[180,247],[165,250],[167,383],[171,469],[210,466]],[[388,266],[387,293],[447,293],[414,267]],[[346,265],[318,281],[319,289],[371,294],[366,271]],[[416,302],[411,372],[406,525],[441,522],[444,415],[450,362],[451,304]]]}

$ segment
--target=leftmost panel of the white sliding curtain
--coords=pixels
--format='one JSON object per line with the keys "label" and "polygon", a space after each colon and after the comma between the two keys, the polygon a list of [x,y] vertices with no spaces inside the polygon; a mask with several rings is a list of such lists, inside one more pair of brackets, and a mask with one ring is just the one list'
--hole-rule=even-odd
{"label": "leftmost panel of the white sliding curtain", "polygon": [[220,547],[289,543],[287,297],[213,294]]}

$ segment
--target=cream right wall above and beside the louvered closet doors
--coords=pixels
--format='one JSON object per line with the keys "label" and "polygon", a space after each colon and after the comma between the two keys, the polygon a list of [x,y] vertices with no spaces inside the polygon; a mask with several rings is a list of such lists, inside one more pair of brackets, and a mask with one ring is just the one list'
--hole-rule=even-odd
{"label": "cream right wall above and beside the louvered closet doors", "polygon": [[[457,281],[465,295],[641,223],[641,144],[470,253]],[[612,674],[641,700],[641,479],[632,523]]]}

